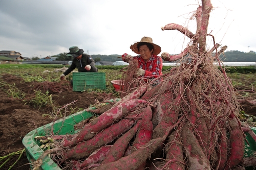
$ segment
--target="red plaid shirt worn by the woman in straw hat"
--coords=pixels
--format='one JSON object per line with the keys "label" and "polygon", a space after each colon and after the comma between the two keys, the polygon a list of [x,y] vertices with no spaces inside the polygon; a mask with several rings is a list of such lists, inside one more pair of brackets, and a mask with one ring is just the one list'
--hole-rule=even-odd
{"label": "red plaid shirt worn by the woman in straw hat", "polygon": [[152,54],[150,60],[148,60],[147,63],[145,63],[145,60],[141,58],[141,56],[136,56],[134,59],[138,60],[139,68],[142,68],[145,70],[144,77],[148,79],[155,79],[162,74],[162,68],[163,68],[163,60],[161,57]]}

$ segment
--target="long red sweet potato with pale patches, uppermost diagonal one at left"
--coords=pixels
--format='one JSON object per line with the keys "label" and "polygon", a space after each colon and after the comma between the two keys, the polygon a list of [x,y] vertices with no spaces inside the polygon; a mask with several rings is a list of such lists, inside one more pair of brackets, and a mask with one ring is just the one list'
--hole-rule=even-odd
{"label": "long red sweet potato with pale patches, uppermost diagonal one at left", "polygon": [[147,103],[147,101],[136,99],[119,103],[115,107],[112,107],[110,110],[99,115],[89,124],[84,126],[84,128],[78,133],[78,135],[74,137],[71,141],[63,140],[63,147],[73,147],[74,145],[83,140],[88,140],[92,138],[95,133],[101,131],[106,127],[109,127],[115,121],[118,121],[120,118],[126,116],[131,111],[131,109],[135,108],[141,103]]}

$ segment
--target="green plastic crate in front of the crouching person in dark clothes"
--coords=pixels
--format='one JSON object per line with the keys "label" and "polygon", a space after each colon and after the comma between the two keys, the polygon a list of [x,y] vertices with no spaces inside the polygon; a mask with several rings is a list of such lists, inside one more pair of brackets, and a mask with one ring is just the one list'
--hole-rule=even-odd
{"label": "green plastic crate in front of the crouching person in dark clothes", "polygon": [[106,89],[105,72],[73,72],[73,91]]}

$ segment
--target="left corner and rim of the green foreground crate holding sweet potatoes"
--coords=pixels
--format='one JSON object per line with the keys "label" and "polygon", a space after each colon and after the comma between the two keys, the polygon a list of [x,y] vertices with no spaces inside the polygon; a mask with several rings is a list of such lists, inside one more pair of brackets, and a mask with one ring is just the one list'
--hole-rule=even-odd
{"label": "left corner and rim of the green foreground crate holding sweet potatoes", "polygon": [[[63,134],[74,134],[74,125],[78,124],[84,119],[93,116],[91,112],[81,111],[70,116],[67,116],[65,119],[59,119],[53,123],[47,124],[45,126],[39,127],[31,132],[29,132],[23,138],[23,145],[26,149],[27,158],[30,163],[37,160],[40,155],[44,153],[42,149],[40,149],[40,143],[37,142],[34,138],[35,136],[45,136],[49,135],[49,131],[53,130],[55,135],[63,135]],[[61,168],[50,158],[45,157],[41,165],[42,170],[61,170]],[[31,166],[32,169],[32,166]]]}

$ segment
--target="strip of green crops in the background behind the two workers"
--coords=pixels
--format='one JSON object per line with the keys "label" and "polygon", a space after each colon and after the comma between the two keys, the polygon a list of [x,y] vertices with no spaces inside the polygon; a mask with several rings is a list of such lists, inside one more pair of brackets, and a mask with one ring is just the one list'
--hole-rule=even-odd
{"label": "strip of green crops in the background behind the two workers", "polygon": [[[61,72],[54,72],[56,68],[62,68],[63,65],[50,65],[50,64],[0,64],[0,75],[2,74],[12,74],[15,76],[20,76],[26,81],[59,81],[59,76]],[[65,66],[67,67],[67,66]],[[121,79],[121,72],[124,66],[97,66],[99,72],[105,72],[106,74],[106,86],[111,85],[112,80]],[[163,74],[168,72],[170,66],[163,66]],[[44,71],[49,70],[52,72]],[[234,87],[241,88],[256,88],[256,68],[254,66],[246,67],[229,67],[227,69],[227,75],[232,80]],[[71,79],[72,74],[67,76],[67,79]],[[254,90],[255,91],[255,90]]]}

